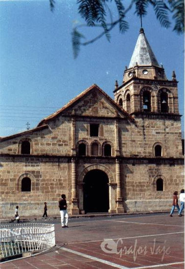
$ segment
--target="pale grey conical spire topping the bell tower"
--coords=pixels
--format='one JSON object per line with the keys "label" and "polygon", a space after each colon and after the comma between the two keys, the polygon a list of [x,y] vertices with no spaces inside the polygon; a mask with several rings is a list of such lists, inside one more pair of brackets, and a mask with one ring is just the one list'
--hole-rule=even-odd
{"label": "pale grey conical spire topping the bell tower", "polygon": [[140,28],[138,41],[136,43],[130,64],[128,68],[139,66],[156,66],[160,67],[156,57],[145,37],[143,28]]}

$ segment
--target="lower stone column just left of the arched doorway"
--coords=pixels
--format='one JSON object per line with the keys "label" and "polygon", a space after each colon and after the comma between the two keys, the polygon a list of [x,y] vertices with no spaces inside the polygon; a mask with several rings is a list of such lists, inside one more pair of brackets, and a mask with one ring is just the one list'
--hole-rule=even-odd
{"label": "lower stone column just left of the arched doorway", "polygon": [[78,199],[76,197],[76,161],[74,158],[71,159],[71,179],[72,179],[71,214],[79,214]]}

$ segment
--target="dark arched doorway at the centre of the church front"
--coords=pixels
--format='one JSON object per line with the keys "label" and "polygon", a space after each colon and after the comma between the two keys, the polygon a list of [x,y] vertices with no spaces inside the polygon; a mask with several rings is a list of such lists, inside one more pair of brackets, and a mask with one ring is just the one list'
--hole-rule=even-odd
{"label": "dark arched doorway at the centre of the church front", "polygon": [[84,210],[85,213],[108,212],[109,179],[101,170],[89,171],[84,177]]}

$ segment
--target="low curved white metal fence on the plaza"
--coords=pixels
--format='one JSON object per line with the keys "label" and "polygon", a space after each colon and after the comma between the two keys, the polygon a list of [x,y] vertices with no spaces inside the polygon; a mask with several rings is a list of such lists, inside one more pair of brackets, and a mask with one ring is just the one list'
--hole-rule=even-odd
{"label": "low curved white metal fence on the plaza", "polygon": [[54,224],[0,225],[0,259],[54,246]]}

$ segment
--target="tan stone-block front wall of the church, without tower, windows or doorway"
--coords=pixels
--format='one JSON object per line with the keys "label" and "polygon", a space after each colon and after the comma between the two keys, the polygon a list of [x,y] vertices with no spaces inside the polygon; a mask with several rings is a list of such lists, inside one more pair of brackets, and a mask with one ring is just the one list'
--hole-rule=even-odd
{"label": "tan stone-block front wall of the church, without tower, windows or doorway", "polygon": [[[180,117],[148,113],[132,120],[102,96],[91,93],[65,115],[50,117],[39,130],[1,139],[1,217],[12,217],[17,204],[22,216],[41,216],[44,202],[48,215],[57,215],[62,193],[69,213],[83,213],[83,180],[94,169],[109,179],[109,212],[169,208],[173,192],[184,188]],[[92,123],[99,125],[98,136],[90,135]],[[31,144],[29,155],[20,152],[24,139]],[[86,156],[78,155],[82,141]],[[93,142],[98,144],[96,156],[91,153]],[[112,149],[109,157],[104,156],[106,143]],[[161,157],[155,157],[156,143],[162,146]],[[21,189],[25,177],[31,179],[31,192]],[[156,190],[159,178],[163,191]]]}

